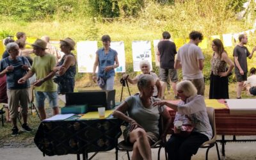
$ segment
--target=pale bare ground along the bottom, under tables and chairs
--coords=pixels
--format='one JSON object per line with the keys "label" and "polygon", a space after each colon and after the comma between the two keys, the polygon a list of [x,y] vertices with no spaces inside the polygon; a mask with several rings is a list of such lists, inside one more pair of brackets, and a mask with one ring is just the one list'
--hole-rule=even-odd
{"label": "pale bare ground along the bottom, under tables and chairs", "polygon": [[[241,137],[237,137],[239,139]],[[243,136],[243,139],[255,139],[255,136]],[[219,150],[221,150],[221,145],[218,143]],[[256,159],[256,143],[227,143],[225,145],[225,157],[221,156],[221,159],[227,160],[253,160]],[[200,148],[198,153],[193,156],[192,160],[203,160],[205,159],[205,152],[206,149]],[[131,155],[132,153],[130,153]],[[42,152],[36,148],[35,144],[28,145],[26,147],[22,147],[20,145],[19,148],[10,148],[5,146],[4,148],[0,149],[1,160],[12,160],[12,159],[19,159],[19,160],[29,160],[29,159],[36,159],[36,160],[70,160],[76,159],[76,155],[65,155],[65,156],[43,156]],[[89,154],[92,156],[92,153]],[[152,158],[157,159],[157,149],[152,149]],[[82,159],[82,156],[81,156]],[[108,160],[108,159],[115,159],[115,150],[110,150],[109,152],[99,152],[93,159],[97,160]],[[125,152],[119,152],[118,159],[127,159],[127,155]],[[164,158],[164,151],[161,150],[161,159]],[[216,147],[213,147],[209,150],[209,160],[215,160],[217,158]]]}

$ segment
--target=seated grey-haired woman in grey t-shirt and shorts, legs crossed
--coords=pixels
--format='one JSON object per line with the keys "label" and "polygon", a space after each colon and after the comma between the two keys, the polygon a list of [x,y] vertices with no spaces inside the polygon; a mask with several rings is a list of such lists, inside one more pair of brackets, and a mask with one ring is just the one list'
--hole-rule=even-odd
{"label": "seated grey-haired woman in grey t-shirt and shorts, legs crossed", "polygon": [[[166,106],[156,108],[153,103],[157,100],[152,97],[154,92],[154,77],[143,75],[138,79],[140,94],[132,95],[116,108],[113,116],[128,122],[129,125],[123,132],[124,140],[132,143],[132,159],[152,159],[150,145],[160,138],[165,138],[172,122]],[[128,116],[125,115],[128,113]],[[165,128],[159,135],[159,116],[163,116]]]}

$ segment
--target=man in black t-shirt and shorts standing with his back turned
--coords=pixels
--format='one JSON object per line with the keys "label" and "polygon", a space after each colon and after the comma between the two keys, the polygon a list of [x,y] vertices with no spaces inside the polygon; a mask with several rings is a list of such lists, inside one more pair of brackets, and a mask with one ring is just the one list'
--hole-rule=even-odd
{"label": "man in black t-shirt and shorts standing with his back turned", "polygon": [[174,68],[175,54],[177,54],[176,45],[172,41],[170,41],[171,35],[168,31],[164,31],[162,35],[163,40],[160,41],[157,45],[157,56],[159,56],[158,60],[160,60],[159,77],[160,81],[166,82],[170,76],[175,99],[178,99],[176,90],[178,76],[177,70]]}

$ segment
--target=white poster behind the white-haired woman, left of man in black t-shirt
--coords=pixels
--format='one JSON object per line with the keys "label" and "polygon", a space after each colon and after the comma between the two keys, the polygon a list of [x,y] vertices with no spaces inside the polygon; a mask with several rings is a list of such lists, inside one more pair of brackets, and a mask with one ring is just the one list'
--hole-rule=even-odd
{"label": "white poster behind the white-haired woman, left of man in black t-shirt", "polygon": [[132,60],[134,72],[139,72],[140,61],[148,60],[150,63],[150,70],[152,70],[152,53],[151,43],[147,41],[132,41]]}

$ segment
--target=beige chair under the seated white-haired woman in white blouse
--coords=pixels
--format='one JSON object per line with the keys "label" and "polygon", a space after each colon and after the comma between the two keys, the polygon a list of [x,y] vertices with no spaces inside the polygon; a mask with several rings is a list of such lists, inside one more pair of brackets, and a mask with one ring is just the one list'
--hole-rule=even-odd
{"label": "beige chair under the seated white-haired woman in white blouse", "polygon": [[207,148],[206,153],[205,153],[205,160],[208,159],[208,152],[209,149],[214,147],[214,145],[216,145],[216,150],[217,150],[217,154],[218,154],[218,159],[220,160],[220,153],[219,153],[219,148],[218,148],[218,144],[216,142],[216,124],[215,124],[215,112],[214,112],[214,108],[209,108],[207,107],[207,114],[209,116],[209,121],[210,124],[212,126],[212,139],[209,141],[205,141],[205,143],[203,143],[200,148]]}

